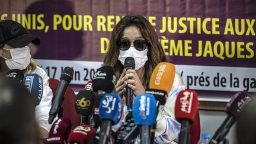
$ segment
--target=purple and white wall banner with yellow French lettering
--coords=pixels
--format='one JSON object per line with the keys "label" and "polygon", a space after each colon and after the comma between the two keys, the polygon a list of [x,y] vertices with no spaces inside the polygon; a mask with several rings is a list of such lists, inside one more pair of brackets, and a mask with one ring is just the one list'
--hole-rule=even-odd
{"label": "purple and white wall banner with yellow French lettering", "polygon": [[114,26],[124,15],[139,14],[155,28],[186,88],[199,97],[256,91],[256,1],[25,0],[1,5],[1,20],[18,21],[40,38],[40,46],[30,44],[31,55],[52,78],[72,66],[71,84],[86,84],[103,63]]}

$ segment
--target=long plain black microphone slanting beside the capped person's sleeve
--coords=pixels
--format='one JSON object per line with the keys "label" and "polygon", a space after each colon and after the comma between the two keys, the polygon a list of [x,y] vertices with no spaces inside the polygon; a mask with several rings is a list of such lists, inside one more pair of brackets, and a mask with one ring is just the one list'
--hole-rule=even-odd
{"label": "long plain black microphone slanting beside the capped person's sleeve", "polygon": [[53,99],[52,107],[49,112],[49,123],[52,123],[53,119],[55,119],[57,113],[59,112],[60,107],[62,107],[64,95],[66,89],[68,88],[69,83],[73,78],[73,69],[70,67],[65,67],[60,75],[60,82],[57,87],[57,91],[55,97]]}

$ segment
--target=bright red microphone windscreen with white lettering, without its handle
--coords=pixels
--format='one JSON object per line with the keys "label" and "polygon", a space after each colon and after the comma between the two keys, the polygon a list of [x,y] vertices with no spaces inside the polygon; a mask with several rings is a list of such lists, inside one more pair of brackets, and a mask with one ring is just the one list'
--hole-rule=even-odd
{"label": "bright red microphone windscreen with white lettering, without its handle", "polygon": [[185,89],[180,91],[175,102],[175,118],[180,120],[190,120],[191,123],[197,113],[198,98],[196,91]]}

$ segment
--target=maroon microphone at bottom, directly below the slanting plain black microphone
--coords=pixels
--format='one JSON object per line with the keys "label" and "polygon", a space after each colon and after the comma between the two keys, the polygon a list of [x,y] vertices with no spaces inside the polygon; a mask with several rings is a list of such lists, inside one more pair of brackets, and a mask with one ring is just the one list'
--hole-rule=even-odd
{"label": "maroon microphone at bottom, directly below the slanting plain black microphone", "polygon": [[71,133],[71,120],[67,117],[62,117],[56,120],[49,133],[49,137],[46,139],[48,143],[67,143],[69,133]]}

